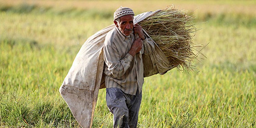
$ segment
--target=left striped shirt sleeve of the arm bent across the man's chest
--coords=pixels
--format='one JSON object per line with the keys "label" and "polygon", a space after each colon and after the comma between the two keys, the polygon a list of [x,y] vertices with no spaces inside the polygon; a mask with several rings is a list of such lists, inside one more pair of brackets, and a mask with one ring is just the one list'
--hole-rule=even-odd
{"label": "left striped shirt sleeve of the arm bent across the man's chest", "polygon": [[123,58],[119,55],[117,49],[113,45],[105,45],[103,47],[104,61],[108,70],[114,77],[121,77],[130,67],[133,56],[127,53]]}

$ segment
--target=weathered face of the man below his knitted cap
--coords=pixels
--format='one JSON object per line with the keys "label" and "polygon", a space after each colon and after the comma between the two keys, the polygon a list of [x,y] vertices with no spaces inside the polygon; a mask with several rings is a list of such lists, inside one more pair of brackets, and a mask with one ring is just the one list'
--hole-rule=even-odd
{"label": "weathered face of the man below his knitted cap", "polygon": [[125,15],[120,17],[120,22],[114,21],[115,26],[125,35],[128,36],[133,31],[133,15]]}

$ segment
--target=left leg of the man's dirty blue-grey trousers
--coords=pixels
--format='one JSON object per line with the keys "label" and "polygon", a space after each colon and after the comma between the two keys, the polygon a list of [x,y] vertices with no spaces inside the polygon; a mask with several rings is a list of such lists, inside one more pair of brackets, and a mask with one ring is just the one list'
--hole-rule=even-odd
{"label": "left leg of the man's dirty blue-grey trousers", "polygon": [[123,91],[118,88],[107,88],[106,101],[110,112],[114,115],[114,128],[130,128],[128,125],[129,110]]}

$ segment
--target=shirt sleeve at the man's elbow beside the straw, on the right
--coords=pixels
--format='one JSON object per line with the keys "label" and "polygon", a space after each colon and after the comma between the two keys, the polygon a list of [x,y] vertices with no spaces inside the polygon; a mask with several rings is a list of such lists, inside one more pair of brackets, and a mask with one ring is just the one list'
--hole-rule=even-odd
{"label": "shirt sleeve at the man's elbow beside the straw, on the right", "polygon": [[[146,35],[145,35],[146,37]],[[145,40],[143,40],[143,54],[145,55],[151,55],[155,49],[155,44],[151,38],[146,37]]]}

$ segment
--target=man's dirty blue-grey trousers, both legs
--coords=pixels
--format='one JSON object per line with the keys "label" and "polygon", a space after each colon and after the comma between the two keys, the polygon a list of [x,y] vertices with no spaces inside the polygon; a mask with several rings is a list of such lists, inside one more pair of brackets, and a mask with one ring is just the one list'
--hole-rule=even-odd
{"label": "man's dirty blue-grey trousers, both legs", "polygon": [[119,88],[106,89],[107,106],[114,115],[114,128],[136,128],[142,93],[125,94]]}

